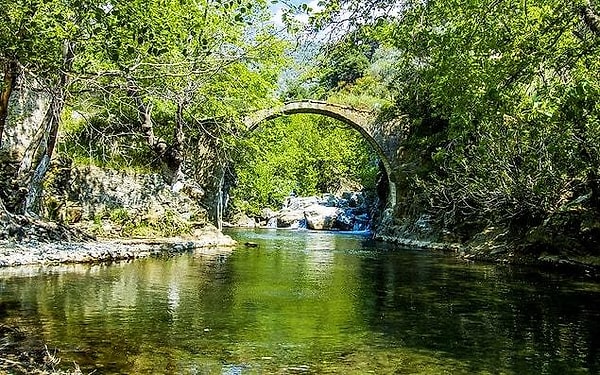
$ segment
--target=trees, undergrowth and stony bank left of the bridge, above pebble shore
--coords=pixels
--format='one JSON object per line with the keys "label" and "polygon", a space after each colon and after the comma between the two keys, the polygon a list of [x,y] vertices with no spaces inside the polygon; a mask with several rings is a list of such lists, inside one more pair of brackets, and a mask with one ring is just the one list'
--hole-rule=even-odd
{"label": "trees, undergrowth and stony bank left of the bridge, above pebble shore", "polygon": [[[266,3],[1,5],[3,220],[126,237],[209,225],[235,119],[273,101],[285,61]],[[132,207],[127,192],[113,194],[127,183],[90,181],[95,166],[152,180],[138,190],[156,197],[140,193],[145,205]]]}

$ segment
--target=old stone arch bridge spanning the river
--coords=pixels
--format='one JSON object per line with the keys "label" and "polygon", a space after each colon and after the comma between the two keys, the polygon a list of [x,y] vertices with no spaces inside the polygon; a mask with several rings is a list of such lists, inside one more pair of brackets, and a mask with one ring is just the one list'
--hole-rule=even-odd
{"label": "old stone arch bridge spanning the river", "polygon": [[298,100],[287,102],[280,107],[254,112],[244,119],[244,124],[249,131],[253,131],[265,121],[299,113],[317,114],[334,118],[356,129],[369,142],[379,156],[388,177],[388,204],[392,207],[396,205],[396,185],[394,183],[391,161],[395,159],[398,144],[394,137],[391,137],[390,124],[386,124],[385,121],[380,119],[378,111],[365,111],[350,106],[316,100]]}

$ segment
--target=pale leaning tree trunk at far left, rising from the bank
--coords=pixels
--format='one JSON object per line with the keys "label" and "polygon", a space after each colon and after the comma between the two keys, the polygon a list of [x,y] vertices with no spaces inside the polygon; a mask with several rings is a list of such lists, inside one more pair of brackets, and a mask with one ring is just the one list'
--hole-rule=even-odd
{"label": "pale leaning tree trunk at far left, rising from the bank", "polygon": [[42,182],[50,166],[50,159],[56,147],[60,118],[65,106],[69,88],[69,71],[75,58],[75,44],[65,41],[63,45],[63,63],[59,72],[58,82],[52,92],[50,106],[38,134],[27,148],[21,161],[18,180],[22,186],[27,186],[27,194],[21,203],[21,211],[25,214],[39,212],[39,198]]}

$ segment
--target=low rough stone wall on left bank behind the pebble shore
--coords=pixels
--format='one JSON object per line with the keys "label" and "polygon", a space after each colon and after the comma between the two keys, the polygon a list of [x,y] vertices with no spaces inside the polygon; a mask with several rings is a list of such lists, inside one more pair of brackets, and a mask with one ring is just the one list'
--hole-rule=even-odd
{"label": "low rough stone wall on left bank behind the pebble shore", "polygon": [[203,195],[198,187],[171,187],[158,173],[71,167],[63,162],[53,164],[44,201],[50,218],[68,223],[98,222],[120,211],[131,220],[159,220],[170,214],[204,224],[207,211],[199,203]]}

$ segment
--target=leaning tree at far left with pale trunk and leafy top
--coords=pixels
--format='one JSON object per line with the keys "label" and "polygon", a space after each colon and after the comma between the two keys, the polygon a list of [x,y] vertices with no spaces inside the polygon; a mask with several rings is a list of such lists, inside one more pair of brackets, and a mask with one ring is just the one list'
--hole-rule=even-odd
{"label": "leaning tree at far left with pale trunk and leafy top", "polygon": [[4,84],[0,95],[0,135],[10,96],[21,72],[37,78],[50,97],[43,123],[21,162],[18,181],[28,193],[18,209],[31,212],[36,205],[41,181],[58,134],[65,104],[75,43],[81,36],[79,24],[87,19],[90,5],[82,2],[15,1],[2,3],[0,63]]}

